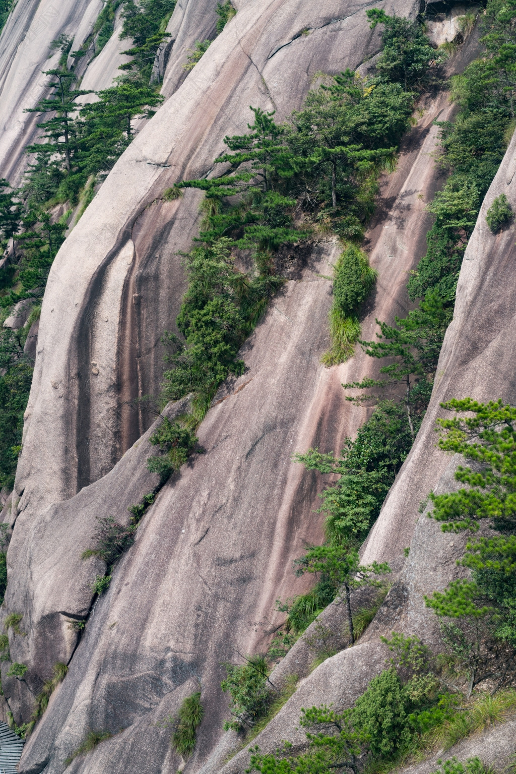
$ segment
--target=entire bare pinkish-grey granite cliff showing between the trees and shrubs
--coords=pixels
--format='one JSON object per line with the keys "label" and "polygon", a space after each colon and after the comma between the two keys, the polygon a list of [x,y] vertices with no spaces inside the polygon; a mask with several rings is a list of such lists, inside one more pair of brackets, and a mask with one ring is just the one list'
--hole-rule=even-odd
{"label": "entire bare pinkish-grey granite cliff showing between the trees and shrubs", "polygon": [[[176,772],[182,762],[162,721],[199,689],[206,715],[184,770],[218,771],[234,749],[234,738],[221,731],[227,717],[221,665],[265,648],[281,622],[275,600],[306,590],[308,581],[296,580],[292,560],[321,538],[322,517],[314,511],[323,482],[292,462],[292,454],[314,446],[338,451],[367,417],[367,409],[345,402],[341,383],[378,374],[378,363],[361,351],[336,368],[320,364],[329,345],[328,277],[339,254],[336,242],[287,251],[285,286],[241,351],[246,371],[221,387],[200,426],[204,453],[194,454],[159,491],[100,598],[91,584],[104,564],[80,555],[91,547],[98,516],[124,522],[128,506],[158,486],[145,467],[153,417],[132,408],[132,400],[158,392],[160,338],[163,330],[175,330],[186,288],[178,252],[190,247],[199,218],[196,191],[169,203],[160,199],[162,191],[212,173],[224,135],[245,131],[249,104],[285,118],[300,108],[320,70],[337,73],[374,56],[378,30],[369,29],[365,16],[374,5],[411,18],[419,11],[419,3],[409,0],[234,2],[237,15],[186,74],[186,50],[196,39],[214,36],[216,15],[213,3],[179,0],[156,65],[160,73],[164,69],[166,102],[118,160],[53,263],[9,506],[14,529],[4,615],[23,615],[26,636],[11,630],[10,649],[13,659],[29,666],[25,680],[7,677],[6,664],[2,669],[15,720],[29,719],[33,696],[54,663],[64,661],[70,669],[26,744],[20,772]],[[24,77],[39,90],[30,101],[37,101],[45,46],[61,32],[86,39],[100,4],[68,3],[66,13],[48,17],[38,38],[40,25],[32,27],[29,10],[39,19],[45,9],[45,0],[30,9],[19,0],[5,28],[11,32],[2,33],[0,44],[15,43],[9,55],[0,46],[0,104],[11,104],[8,98],[14,100],[15,85],[22,83],[16,81],[22,78],[16,57],[24,51],[32,62]],[[463,46],[457,62],[472,55],[473,48]],[[83,83],[105,87],[106,73],[114,77],[119,61],[112,38],[87,65]],[[31,119],[20,118],[28,99],[26,83],[24,88],[25,101],[12,101],[12,122],[0,145],[2,176],[21,174],[22,148],[32,139]],[[405,139],[398,170],[381,183],[367,235],[379,279],[364,312],[365,339],[374,337],[375,318],[391,321],[408,309],[407,272],[424,254],[429,228],[424,203],[443,182],[435,168],[433,122],[449,118],[453,108],[446,94],[426,98],[424,108]],[[514,402],[514,233],[495,238],[485,224],[494,196],[504,191],[514,204],[514,170],[513,141],[466,252],[425,426],[365,546],[365,560],[402,567],[402,550],[410,545],[408,561],[357,647],[328,659],[311,676],[306,646],[300,640],[292,649],[278,679],[299,669],[303,680],[259,738],[264,749],[284,738],[303,745],[304,735],[296,731],[301,706],[331,700],[349,706],[383,668],[378,635],[400,626],[435,639],[422,594],[455,577],[460,543],[450,551],[449,537],[419,516],[419,501],[430,488],[453,485],[456,461],[432,447],[439,401],[472,395]],[[184,406],[169,407],[180,410]],[[340,616],[334,605],[323,614],[336,627]],[[79,638],[73,622],[86,618]],[[88,730],[112,736],[67,765]],[[243,771],[246,756],[239,753],[224,770]]]}

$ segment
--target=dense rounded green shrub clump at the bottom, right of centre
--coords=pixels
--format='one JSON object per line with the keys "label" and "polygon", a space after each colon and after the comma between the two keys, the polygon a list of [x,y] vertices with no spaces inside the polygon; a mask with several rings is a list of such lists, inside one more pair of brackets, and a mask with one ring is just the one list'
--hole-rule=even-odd
{"label": "dense rounded green shrub clump at the bottom, right of centre", "polygon": [[330,772],[350,769],[358,774],[381,762],[395,764],[422,730],[443,723],[453,714],[453,697],[439,691],[429,650],[415,637],[394,633],[385,640],[393,656],[388,669],[374,677],[354,707],[302,710],[299,723],[307,729],[307,752],[289,754],[289,745],[275,753],[251,751],[248,771],[267,774]]}

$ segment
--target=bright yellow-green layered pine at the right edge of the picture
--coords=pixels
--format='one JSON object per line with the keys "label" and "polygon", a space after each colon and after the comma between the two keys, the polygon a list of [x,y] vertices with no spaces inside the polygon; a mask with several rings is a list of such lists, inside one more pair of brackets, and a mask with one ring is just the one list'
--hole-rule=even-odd
{"label": "bright yellow-green layered pine at the right edge of the picture", "polygon": [[455,580],[426,604],[443,619],[449,670],[467,675],[469,692],[487,678],[498,690],[516,676],[516,409],[470,398],[441,406],[470,416],[437,420],[445,430],[439,447],[463,454],[476,469],[458,467],[455,478],[467,488],[431,494],[430,515],[445,532],[474,533],[487,519],[501,534],[466,545],[461,563],[473,570],[473,582]]}

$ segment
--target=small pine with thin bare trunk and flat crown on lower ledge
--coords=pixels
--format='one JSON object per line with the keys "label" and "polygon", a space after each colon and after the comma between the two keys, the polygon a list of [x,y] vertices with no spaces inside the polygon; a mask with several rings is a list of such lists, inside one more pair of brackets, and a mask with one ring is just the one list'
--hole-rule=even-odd
{"label": "small pine with thin bare trunk and flat crown on lower ledge", "polygon": [[391,572],[387,563],[361,565],[356,548],[351,546],[313,546],[302,559],[296,560],[297,574],[320,573],[328,576],[334,586],[345,591],[347,622],[350,628],[350,645],[354,644],[353,618],[350,595],[363,586],[381,586],[378,575]]}

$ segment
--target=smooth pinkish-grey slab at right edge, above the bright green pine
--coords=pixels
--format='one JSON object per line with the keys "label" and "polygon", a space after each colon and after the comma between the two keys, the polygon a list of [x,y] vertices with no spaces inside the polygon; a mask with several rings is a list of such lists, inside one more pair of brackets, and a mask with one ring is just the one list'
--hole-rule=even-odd
{"label": "smooth pinkish-grey slab at right edge, above the bright green pine", "polygon": [[514,225],[496,235],[487,222],[493,200],[505,194],[516,203],[516,135],[484,199],[466,248],[453,321],[446,331],[432,401],[402,471],[371,530],[364,562],[396,560],[407,545],[419,502],[439,481],[448,459],[435,445],[434,427],[445,416],[439,403],[451,398],[516,403],[514,361]]}

